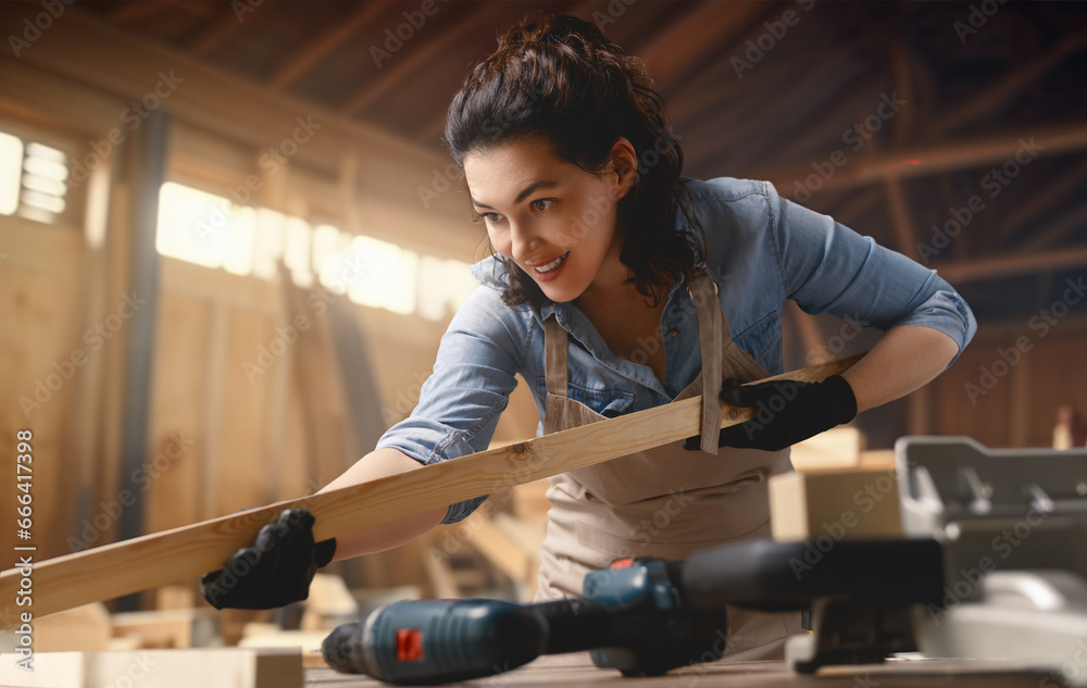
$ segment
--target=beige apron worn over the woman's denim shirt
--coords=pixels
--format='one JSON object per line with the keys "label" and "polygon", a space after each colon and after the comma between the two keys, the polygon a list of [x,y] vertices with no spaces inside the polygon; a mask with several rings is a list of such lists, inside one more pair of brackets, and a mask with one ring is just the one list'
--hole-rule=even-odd
{"label": "beige apron worn over the woman's denim shirt", "polygon": [[[705,271],[691,278],[688,293],[698,312],[703,367],[676,401],[707,387],[719,389],[727,377],[766,377],[733,341],[716,285]],[[545,322],[545,434],[603,418],[566,397],[567,346],[567,334],[552,315]],[[585,575],[615,559],[678,560],[707,547],[770,536],[766,480],[792,471],[789,451],[723,448],[717,455],[707,453],[716,452],[721,408],[715,393],[703,403],[705,451],[686,451],[675,442],[550,479],[537,601],[579,597]],[[727,659],[783,659],[785,638],[803,633],[799,612],[728,606],[727,615]]]}

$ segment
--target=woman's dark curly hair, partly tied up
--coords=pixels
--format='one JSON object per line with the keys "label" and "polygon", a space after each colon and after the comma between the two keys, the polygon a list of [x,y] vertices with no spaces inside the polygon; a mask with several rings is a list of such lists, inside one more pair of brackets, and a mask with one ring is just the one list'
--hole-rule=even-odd
{"label": "woman's dark curly hair, partly tied up", "polygon": [[[635,186],[619,201],[620,260],[627,280],[653,304],[704,255],[702,235],[683,185],[683,151],[669,133],[664,101],[645,61],[629,57],[592,24],[573,16],[522,22],[499,39],[449,105],[446,143],[459,165],[472,151],[527,137],[586,172],[602,172],[624,137],[638,158]],[[692,232],[677,228],[682,213]],[[509,272],[509,305],[538,308],[547,297],[521,267]]]}

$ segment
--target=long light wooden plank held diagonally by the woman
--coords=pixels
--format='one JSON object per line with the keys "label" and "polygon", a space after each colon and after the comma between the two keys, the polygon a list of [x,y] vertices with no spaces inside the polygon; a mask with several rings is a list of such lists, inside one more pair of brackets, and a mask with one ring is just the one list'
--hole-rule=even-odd
{"label": "long light wooden plank held diagonally by the woman", "polygon": [[[845,372],[861,356],[816,365],[773,379],[816,381]],[[287,508],[309,509],[318,540],[445,506],[505,487],[676,442],[701,427],[702,399],[675,403],[545,435],[361,485],[287,500],[184,528],[67,554],[34,566],[35,616],[195,578],[248,546]],[[722,427],[752,417],[725,406]],[[0,574],[0,599],[14,599],[20,572]]]}

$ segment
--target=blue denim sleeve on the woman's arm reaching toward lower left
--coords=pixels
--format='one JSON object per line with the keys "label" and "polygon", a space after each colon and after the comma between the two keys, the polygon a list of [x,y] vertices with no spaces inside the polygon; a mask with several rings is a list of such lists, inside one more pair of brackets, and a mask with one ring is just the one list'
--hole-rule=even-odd
{"label": "blue denim sleeve on the woman's arm reaching toward lower left", "polygon": [[[382,436],[378,448],[397,449],[424,464],[487,449],[516,387],[524,352],[515,323],[502,315],[493,289],[480,286],[468,296],[441,338],[418,404]],[[465,518],[486,499],[450,505],[442,523]]]}

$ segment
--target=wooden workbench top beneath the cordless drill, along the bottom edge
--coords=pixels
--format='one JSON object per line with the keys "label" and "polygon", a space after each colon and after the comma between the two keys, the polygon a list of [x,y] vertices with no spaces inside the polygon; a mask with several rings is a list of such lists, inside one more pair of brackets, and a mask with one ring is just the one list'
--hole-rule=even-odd
{"label": "wooden workbench top beneath the cordless drill, along the bottom edge", "polygon": [[[1087,671],[1085,667],[1084,671]],[[542,656],[521,668],[457,686],[515,686],[552,688],[612,686],[614,688],[761,688],[809,686],[811,688],[1057,688],[1063,686],[1044,673],[994,662],[945,660],[890,661],[884,665],[837,666],[815,676],[789,671],[785,662],[714,662],[676,670],[665,676],[624,678],[614,670],[597,668],[588,653]],[[305,686],[376,688],[388,686],[366,676],[338,674],[327,668],[305,671]]]}

